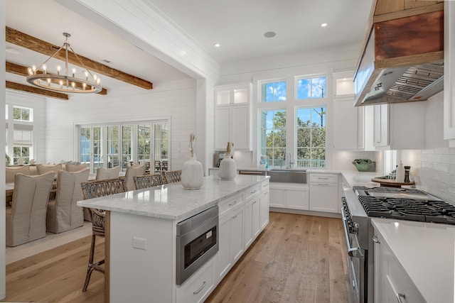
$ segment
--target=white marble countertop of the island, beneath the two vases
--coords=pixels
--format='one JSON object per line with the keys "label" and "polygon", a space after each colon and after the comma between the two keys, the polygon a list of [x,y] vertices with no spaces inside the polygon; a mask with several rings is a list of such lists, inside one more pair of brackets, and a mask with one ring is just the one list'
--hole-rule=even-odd
{"label": "white marble countertop of the island, beneath the two vases", "polygon": [[237,175],[233,180],[221,180],[218,176],[204,177],[200,189],[186,190],[180,182],[159,187],[137,189],[107,197],[77,202],[78,206],[105,209],[139,216],[162,219],[183,219],[214,206],[221,199],[242,192],[267,176]]}

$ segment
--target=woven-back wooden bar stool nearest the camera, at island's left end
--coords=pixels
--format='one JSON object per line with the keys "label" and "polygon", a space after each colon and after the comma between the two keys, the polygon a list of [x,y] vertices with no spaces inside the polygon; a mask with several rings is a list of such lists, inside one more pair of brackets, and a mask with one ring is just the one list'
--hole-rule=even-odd
{"label": "woven-back wooden bar stool nearest the camera, at island's left end", "polygon": [[[82,194],[84,199],[92,199],[97,197],[108,196],[109,194],[119,194],[124,192],[124,180],[123,178],[114,178],[107,180],[94,180],[89,182],[84,182],[81,184]],[[92,275],[93,270],[97,272],[105,273],[105,268],[102,266],[105,263],[103,258],[100,261],[94,263],[95,255],[95,241],[96,237],[105,237],[106,230],[106,213],[102,209],[90,209],[90,214],[92,217],[92,244],[90,245],[90,255],[88,257],[88,266],[87,266],[87,275],[85,276],[84,287],[82,292],[87,290],[88,284],[90,282],[90,276]]]}

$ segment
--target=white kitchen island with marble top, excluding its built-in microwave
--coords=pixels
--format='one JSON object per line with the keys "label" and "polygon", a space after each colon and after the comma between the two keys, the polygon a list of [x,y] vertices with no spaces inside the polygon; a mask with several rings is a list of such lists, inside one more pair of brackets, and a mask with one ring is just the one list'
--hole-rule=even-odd
{"label": "white kitchen island with marble top, excluding its built-in microwave", "polygon": [[[208,176],[198,190],[172,183],[77,202],[107,211],[105,301],[203,302],[240,258],[245,244],[257,237],[256,226],[262,231],[267,225],[268,178]],[[257,199],[249,216],[245,198]],[[176,224],[212,206],[218,206],[218,253],[177,285]],[[252,228],[250,243],[244,241],[244,226]],[[141,248],[134,247],[138,242]]]}

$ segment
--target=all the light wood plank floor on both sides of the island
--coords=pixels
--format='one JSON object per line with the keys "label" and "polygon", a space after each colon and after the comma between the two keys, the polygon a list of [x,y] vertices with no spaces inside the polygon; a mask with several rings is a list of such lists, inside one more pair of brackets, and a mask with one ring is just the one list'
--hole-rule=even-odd
{"label": "all the light wood plank floor on both sides of the island", "polygon": [[[341,219],[270,213],[265,231],[206,302],[348,302],[343,237]],[[103,249],[99,241],[99,256]],[[90,236],[7,265],[1,302],[104,302],[100,272],[81,291],[89,250]]]}

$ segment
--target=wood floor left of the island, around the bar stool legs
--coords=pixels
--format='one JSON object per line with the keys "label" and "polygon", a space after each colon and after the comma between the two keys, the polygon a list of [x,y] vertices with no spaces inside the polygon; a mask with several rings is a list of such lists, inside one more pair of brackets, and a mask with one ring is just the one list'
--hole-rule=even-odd
{"label": "wood floor left of the island, around the bar stool legs", "polygon": [[[6,265],[6,299],[0,302],[104,302],[105,277],[92,272],[82,292],[92,236]],[[104,255],[105,241],[97,238],[95,260]]]}

